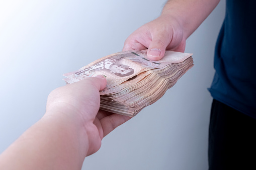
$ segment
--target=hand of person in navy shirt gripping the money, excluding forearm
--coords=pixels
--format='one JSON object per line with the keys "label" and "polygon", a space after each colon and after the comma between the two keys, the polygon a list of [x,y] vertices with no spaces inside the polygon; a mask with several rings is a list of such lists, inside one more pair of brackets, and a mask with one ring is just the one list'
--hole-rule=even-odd
{"label": "hand of person in navy shirt gripping the money, excluding forearm", "polygon": [[186,38],[178,21],[161,15],[133,32],[126,39],[123,51],[148,49],[150,60],[160,60],[165,50],[184,52],[185,46]]}

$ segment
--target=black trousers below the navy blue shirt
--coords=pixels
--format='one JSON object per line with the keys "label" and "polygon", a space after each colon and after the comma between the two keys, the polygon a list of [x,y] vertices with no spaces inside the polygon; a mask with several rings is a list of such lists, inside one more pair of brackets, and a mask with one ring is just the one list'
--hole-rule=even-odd
{"label": "black trousers below the navy blue shirt", "polygon": [[214,99],[208,160],[209,170],[256,169],[256,119]]}

